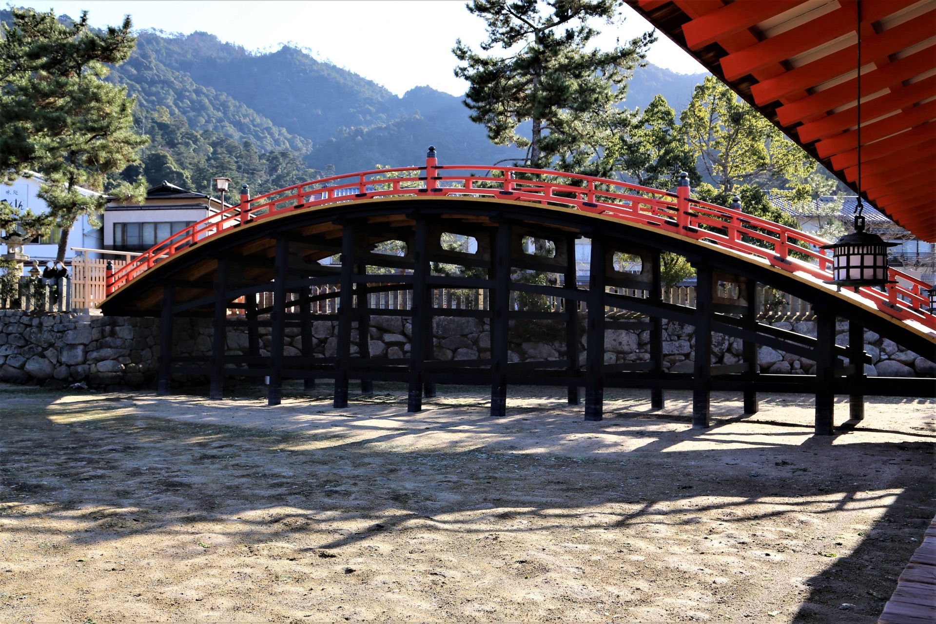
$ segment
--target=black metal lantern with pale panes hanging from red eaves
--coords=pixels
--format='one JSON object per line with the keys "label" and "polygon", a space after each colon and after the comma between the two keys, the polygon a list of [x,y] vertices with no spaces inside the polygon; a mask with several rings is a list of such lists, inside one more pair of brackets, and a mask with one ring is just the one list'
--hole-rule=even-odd
{"label": "black metal lantern with pale panes hanging from red eaves", "polygon": [[856,292],[861,286],[894,283],[887,279],[887,248],[895,247],[897,243],[886,242],[864,230],[865,217],[859,212],[855,215],[855,232],[820,248],[831,249],[835,259],[832,279],[826,283],[834,283],[840,288],[854,287]]}

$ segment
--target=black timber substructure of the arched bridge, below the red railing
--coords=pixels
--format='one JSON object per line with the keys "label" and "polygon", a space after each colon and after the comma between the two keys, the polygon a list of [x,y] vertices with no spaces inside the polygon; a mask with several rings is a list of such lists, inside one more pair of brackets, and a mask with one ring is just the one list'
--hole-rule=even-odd
{"label": "black timber substructure of the arched bridge, below the red railing", "polygon": [[[902,343],[930,358],[936,356],[932,343],[788,273],[652,229],[606,222],[596,227],[590,215],[572,211],[540,215],[535,207],[506,210],[502,204],[492,210],[483,202],[461,202],[457,211],[445,201],[420,204],[420,210],[396,212],[375,204],[371,210],[298,214],[244,230],[249,238],[219,237],[183,254],[185,263],[177,258],[157,266],[154,279],[131,284],[106,312],[162,316],[160,393],[168,393],[173,374],[208,376],[217,399],[226,379],[269,378],[271,405],[281,400],[284,379],[302,379],[306,388],[334,380],[336,407],[347,404],[351,381],[359,381],[363,392],[374,381],[405,383],[414,412],[424,396],[434,395],[435,384],[490,385],[491,414],[500,416],[508,386],[553,385],[567,388],[570,404],[585,388],[585,418],[600,420],[605,388],[647,389],[652,409],[663,408],[667,390],[691,390],[694,425],[708,427],[712,391],[742,393],[746,414],[757,411],[757,393],[790,392],[815,395],[816,431],[827,434],[836,395],[851,397],[852,417],[859,419],[867,395],[936,394],[932,380],[867,377],[862,333],[870,328],[898,342],[916,338]],[[591,241],[587,279],[577,271],[580,238]],[[695,308],[662,299],[664,251],[695,265]],[[624,270],[625,262],[639,271]],[[816,309],[835,313],[819,315],[815,336],[760,323],[758,283],[812,296]],[[173,319],[186,316],[213,319],[210,356],[171,354]],[[372,353],[374,316],[402,317],[412,327],[408,353]],[[847,346],[834,342],[836,316],[853,327]],[[490,344],[440,359],[446,351],[436,349],[433,327],[446,318],[475,319],[475,333],[490,331]],[[693,374],[665,371],[664,320],[695,327]],[[507,345],[533,321],[555,326],[564,351],[557,347],[554,360],[510,361]],[[324,356],[313,350],[313,327],[320,322],[337,324]],[[243,327],[247,355],[228,355],[228,330]],[[607,332],[620,329],[648,332],[646,361],[606,361]],[[260,340],[261,330],[269,342]],[[709,362],[713,332],[742,341],[739,364]],[[285,351],[285,336],[297,334],[301,348]],[[756,360],[762,345],[815,360],[816,374],[761,373]]]}

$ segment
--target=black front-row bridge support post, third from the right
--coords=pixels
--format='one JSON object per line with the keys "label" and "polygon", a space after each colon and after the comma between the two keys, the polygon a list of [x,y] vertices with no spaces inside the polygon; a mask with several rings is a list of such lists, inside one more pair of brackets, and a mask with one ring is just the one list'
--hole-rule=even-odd
{"label": "black front-row bridge support post, third from the right", "polygon": [[605,241],[592,239],[585,356],[585,420],[601,420],[605,409]]}

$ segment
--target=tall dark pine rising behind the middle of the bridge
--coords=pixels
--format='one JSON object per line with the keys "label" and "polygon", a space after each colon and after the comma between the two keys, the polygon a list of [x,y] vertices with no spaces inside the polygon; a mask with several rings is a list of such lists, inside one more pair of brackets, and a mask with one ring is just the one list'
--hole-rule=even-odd
{"label": "tall dark pine rising behind the middle of the bridge", "polygon": [[[588,50],[598,34],[590,22],[610,22],[622,0],[474,0],[468,10],[488,24],[481,51],[459,39],[453,48],[463,64],[455,75],[469,82],[464,104],[498,145],[526,150],[531,167],[584,171],[600,158],[616,131],[629,123],[621,109],[627,80],[640,65],[651,33],[611,51]],[[520,123],[531,122],[529,138]],[[592,163],[593,166],[593,163]]]}

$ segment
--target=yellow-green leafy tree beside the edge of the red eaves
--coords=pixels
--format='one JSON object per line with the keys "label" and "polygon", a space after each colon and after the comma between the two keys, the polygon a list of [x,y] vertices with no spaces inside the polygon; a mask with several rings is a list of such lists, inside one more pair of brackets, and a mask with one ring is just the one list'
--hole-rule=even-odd
{"label": "yellow-green leafy tree beside the edge of the red eaves", "polygon": [[681,130],[703,172],[727,193],[739,184],[797,184],[815,161],[714,76],[695,87]]}

